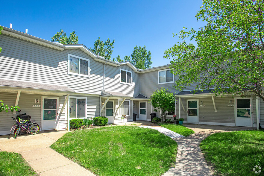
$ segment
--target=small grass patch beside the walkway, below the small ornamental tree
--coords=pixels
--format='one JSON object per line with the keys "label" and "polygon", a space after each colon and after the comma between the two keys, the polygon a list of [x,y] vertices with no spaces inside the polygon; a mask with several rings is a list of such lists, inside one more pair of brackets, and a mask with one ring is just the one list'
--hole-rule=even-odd
{"label": "small grass patch beside the walkway, below the small ornamental tree", "polygon": [[194,131],[192,131],[191,129],[189,128],[186,128],[182,125],[179,125],[179,124],[172,124],[172,123],[160,123],[158,124],[164,128],[167,128],[171,131],[174,131],[178,134],[181,134],[183,136],[189,136],[190,134],[194,133]]}

